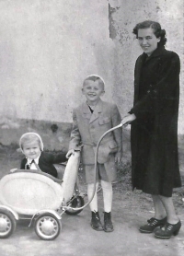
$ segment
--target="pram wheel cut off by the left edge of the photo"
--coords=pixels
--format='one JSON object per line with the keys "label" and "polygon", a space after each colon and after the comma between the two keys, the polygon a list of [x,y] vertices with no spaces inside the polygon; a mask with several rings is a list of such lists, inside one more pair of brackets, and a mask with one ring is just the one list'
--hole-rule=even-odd
{"label": "pram wheel cut off by the left edge of the photo", "polygon": [[12,213],[0,210],[0,239],[6,239],[16,230],[17,222]]}

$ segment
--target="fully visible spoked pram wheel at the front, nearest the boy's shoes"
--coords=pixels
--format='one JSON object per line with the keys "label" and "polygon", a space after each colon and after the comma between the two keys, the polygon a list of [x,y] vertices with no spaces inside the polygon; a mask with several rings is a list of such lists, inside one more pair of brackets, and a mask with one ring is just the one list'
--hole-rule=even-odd
{"label": "fully visible spoked pram wheel at the front, nearest the boy's shoes", "polygon": [[42,214],[35,221],[35,232],[40,239],[53,240],[60,234],[61,223],[52,214]]}

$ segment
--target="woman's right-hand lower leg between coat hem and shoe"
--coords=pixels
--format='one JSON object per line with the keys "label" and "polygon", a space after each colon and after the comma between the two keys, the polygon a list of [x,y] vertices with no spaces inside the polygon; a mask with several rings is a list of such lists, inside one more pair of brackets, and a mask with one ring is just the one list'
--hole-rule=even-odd
{"label": "woman's right-hand lower leg between coat hem and shoe", "polygon": [[167,222],[170,224],[178,223],[178,215],[176,214],[172,197],[159,195],[162,204],[164,205],[167,213]]}

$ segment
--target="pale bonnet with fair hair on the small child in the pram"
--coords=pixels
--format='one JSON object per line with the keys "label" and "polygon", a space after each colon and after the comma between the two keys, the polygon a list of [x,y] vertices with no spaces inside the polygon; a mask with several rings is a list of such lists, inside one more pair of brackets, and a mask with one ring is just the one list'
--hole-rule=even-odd
{"label": "pale bonnet with fair hair on the small child in the pram", "polygon": [[36,134],[36,133],[27,133],[27,134],[23,134],[20,137],[19,146],[20,146],[21,150],[23,151],[24,144],[31,143],[32,141],[38,142],[38,144],[40,145],[40,150],[43,151],[42,139],[41,139],[40,135]]}

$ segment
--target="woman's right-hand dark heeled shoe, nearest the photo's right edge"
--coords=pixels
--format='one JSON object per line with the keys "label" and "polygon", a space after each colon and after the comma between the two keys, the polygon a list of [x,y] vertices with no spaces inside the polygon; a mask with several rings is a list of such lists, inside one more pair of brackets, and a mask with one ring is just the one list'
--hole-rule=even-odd
{"label": "woman's right-hand dark heeled shoe, nearest the photo's right edge", "polygon": [[174,225],[167,223],[165,227],[157,229],[155,231],[155,239],[170,239],[172,235],[177,236],[180,227],[181,227],[180,220],[178,221],[177,224],[174,224]]}

